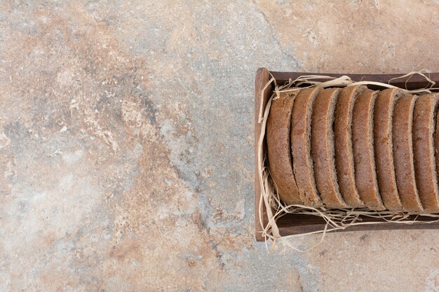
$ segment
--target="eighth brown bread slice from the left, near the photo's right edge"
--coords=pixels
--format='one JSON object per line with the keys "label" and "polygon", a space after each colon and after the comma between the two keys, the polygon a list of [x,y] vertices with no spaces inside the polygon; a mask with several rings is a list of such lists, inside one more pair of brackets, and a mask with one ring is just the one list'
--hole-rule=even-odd
{"label": "eighth brown bread slice from the left, near the photo's right edge", "polygon": [[438,112],[437,93],[419,95],[413,111],[414,176],[419,200],[426,213],[438,213],[438,172],[434,157],[434,128]]}

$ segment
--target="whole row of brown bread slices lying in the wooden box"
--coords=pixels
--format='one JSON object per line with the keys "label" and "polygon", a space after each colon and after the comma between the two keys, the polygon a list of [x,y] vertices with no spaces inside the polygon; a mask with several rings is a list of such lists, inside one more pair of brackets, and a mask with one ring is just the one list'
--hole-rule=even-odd
{"label": "whole row of brown bread slices lying in the wooden box", "polygon": [[304,88],[273,99],[269,170],[287,205],[439,213],[439,94]]}

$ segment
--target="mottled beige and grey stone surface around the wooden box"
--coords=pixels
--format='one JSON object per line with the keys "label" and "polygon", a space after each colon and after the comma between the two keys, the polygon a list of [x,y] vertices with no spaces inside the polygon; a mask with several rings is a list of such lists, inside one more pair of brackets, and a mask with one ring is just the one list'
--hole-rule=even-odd
{"label": "mottled beige and grey stone surface around the wooden box", "polygon": [[437,231],[267,253],[252,186],[258,67],[439,71],[439,1],[30,2],[0,1],[0,291],[439,291]]}

